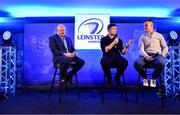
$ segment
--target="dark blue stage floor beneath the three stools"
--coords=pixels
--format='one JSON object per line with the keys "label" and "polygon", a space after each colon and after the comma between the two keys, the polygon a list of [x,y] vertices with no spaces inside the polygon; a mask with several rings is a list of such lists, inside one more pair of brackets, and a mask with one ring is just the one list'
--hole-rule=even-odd
{"label": "dark blue stage floor beneath the three stools", "polygon": [[54,91],[48,99],[48,91],[17,91],[15,96],[0,102],[1,114],[126,114],[126,113],[176,113],[180,114],[180,101],[168,98],[165,108],[161,107],[161,98],[155,92],[145,92],[135,103],[135,92],[128,92],[129,103],[118,91],[105,92],[105,102],[101,103],[101,94],[97,90],[81,92],[78,100],[77,92],[72,90],[62,94],[62,103],[58,103],[58,92]]}

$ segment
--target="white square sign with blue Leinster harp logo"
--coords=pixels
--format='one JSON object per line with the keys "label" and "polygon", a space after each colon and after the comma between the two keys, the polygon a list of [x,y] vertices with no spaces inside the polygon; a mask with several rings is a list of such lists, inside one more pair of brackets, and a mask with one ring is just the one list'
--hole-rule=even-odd
{"label": "white square sign with blue Leinster harp logo", "polygon": [[75,17],[75,48],[100,49],[100,40],[107,35],[109,15],[77,15]]}

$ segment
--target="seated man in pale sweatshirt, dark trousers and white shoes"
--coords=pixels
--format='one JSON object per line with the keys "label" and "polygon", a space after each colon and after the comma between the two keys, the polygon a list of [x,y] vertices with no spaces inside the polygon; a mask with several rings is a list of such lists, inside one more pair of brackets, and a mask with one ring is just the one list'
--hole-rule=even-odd
{"label": "seated man in pale sweatshirt, dark trousers and white shoes", "polygon": [[143,86],[149,86],[144,66],[151,65],[154,68],[150,86],[156,87],[156,78],[160,76],[165,66],[165,56],[168,46],[162,34],[154,31],[154,22],[151,19],[144,21],[144,33],[139,39],[140,56],[134,62],[136,71],[143,77]]}

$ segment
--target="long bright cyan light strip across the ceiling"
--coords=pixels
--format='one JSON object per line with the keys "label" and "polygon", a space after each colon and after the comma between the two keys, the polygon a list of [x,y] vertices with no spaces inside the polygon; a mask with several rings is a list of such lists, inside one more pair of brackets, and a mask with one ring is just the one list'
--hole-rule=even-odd
{"label": "long bright cyan light strip across the ceiling", "polygon": [[86,7],[50,7],[50,6],[11,6],[5,10],[13,17],[75,16],[76,14],[110,14],[110,16],[128,17],[169,17],[166,8],[86,8]]}

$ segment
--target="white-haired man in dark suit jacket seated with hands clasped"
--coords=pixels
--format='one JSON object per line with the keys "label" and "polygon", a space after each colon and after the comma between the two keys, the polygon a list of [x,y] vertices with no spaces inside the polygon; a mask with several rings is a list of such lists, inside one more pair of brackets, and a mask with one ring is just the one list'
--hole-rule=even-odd
{"label": "white-haired man in dark suit jacket seated with hands clasped", "polygon": [[[66,27],[63,24],[59,24],[57,34],[49,38],[49,47],[53,54],[53,62],[60,64],[61,82],[67,80],[70,84],[73,84],[73,75],[83,67],[85,62],[77,57],[71,38],[66,36]],[[71,62],[76,63],[72,65],[73,69],[67,74]]]}

